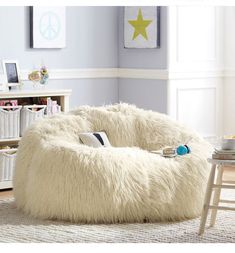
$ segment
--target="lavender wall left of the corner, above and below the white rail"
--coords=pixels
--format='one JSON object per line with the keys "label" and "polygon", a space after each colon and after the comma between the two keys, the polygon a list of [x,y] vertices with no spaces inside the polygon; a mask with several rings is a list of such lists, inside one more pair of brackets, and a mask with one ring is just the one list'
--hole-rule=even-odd
{"label": "lavender wall left of the corner, above and below the white rail", "polygon": [[[29,8],[0,7],[0,60],[17,59],[21,69],[113,68],[118,65],[118,9],[67,7],[67,47],[29,48]],[[50,80],[48,88],[71,88],[71,107],[118,101],[117,79]]]}

